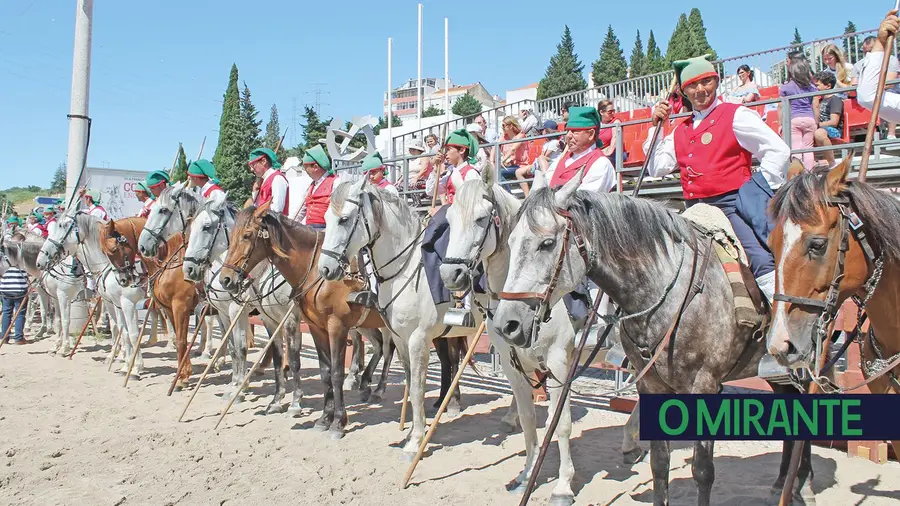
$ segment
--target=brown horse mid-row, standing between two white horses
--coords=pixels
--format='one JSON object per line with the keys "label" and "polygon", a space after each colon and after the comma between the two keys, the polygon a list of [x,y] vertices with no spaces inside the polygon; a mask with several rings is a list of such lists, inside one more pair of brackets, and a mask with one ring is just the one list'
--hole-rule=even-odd
{"label": "brown horse mid-row, standing between two white horses", "polygon": [[283,233],[285,224],[279,220],[269,213],[268,202],[241,210],[219,280],[226,290],[239,293],[248,273],[263,259],[269,258],[281,271],[294,289],[294,300],[319,357],[325,406],[314,428],[340,439],[347,425],[343,394],[347,333],[353,327],[381,329],[384,321],[378,311],[347,302],[348,295],[363,289],[362,281],[331,282],[316,274],[324,233],[300,225],[292,226],[290,234]]}

